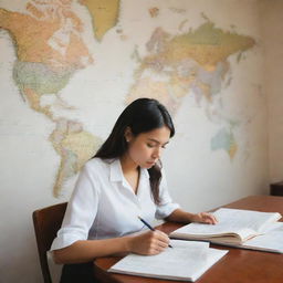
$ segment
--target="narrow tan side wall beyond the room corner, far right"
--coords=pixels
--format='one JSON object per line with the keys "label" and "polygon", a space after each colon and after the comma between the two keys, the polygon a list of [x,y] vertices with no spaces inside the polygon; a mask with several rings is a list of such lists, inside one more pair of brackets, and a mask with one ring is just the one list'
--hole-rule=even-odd
{"label": "narrow tan side wall beyond the room corner, far right", "polygon": [[283,1],[260,1],[269,109],[270,181],[283,180]]}

